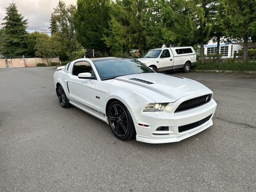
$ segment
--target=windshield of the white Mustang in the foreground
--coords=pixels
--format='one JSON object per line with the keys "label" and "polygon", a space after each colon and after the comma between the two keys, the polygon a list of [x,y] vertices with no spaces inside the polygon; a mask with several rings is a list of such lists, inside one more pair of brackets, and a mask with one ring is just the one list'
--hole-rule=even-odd
{"label": "windshield of the white Mustang in the foreground", "polygon": [[138,73],[154,73],[149,67],[132,58],[98,60],[93,63],[101,80]]}

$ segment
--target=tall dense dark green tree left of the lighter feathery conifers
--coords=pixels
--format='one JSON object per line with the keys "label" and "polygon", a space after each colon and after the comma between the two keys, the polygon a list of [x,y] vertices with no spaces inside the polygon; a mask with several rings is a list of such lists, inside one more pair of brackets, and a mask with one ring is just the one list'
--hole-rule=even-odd
{"label": "tall dense dark green tree left of the lighter feathery conifers", "polygon": [[108,54],[103,37],[110,21],[110,0],[78,0],[74,14],[76,38],[85,48]]}

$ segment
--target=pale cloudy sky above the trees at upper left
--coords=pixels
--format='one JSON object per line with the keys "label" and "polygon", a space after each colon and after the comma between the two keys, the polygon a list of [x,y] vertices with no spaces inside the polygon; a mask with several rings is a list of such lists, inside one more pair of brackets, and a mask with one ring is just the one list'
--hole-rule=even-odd
{"label": "pale cloudy sky above the trees at upper left", "polygon": [[[76,4],[76,0],[62,0],[69,4]],[[48,29],[50,26],[50,17],[53,9],[57,6],[59,0],[0,0],[0,24],[6,16],[5,8],[14,2],[18,7],[19,14],[28,19],[28,32]],[[0,28],[3,26],[0,25]]]}

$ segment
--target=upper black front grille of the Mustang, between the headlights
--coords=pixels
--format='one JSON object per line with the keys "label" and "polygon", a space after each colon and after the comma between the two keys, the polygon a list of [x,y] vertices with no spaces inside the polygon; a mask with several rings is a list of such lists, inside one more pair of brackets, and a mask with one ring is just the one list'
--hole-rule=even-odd
{"label": "upper black front grille of the Mustang, between the headlights", "polygon": [[207,95],[196,97],[190,100],[186,100],[178,106],[178,108],[174,111],[174,113],[186,111],[186,110],[204,105],[210,102],[211,98],[212,98],[212,94],[207,94]]}

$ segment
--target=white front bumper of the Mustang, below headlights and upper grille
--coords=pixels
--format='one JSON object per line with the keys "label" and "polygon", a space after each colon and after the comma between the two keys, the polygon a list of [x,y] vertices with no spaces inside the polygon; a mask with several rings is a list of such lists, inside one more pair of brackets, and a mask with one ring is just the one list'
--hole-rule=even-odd
{"label": "white front bumper of the Mustang, below headlights and upper grille", "polygon": [[[136,140],[146,143],[169,143],[178,142],[193,136],[212,126],[212,116],[214,115],[216,106],[216,102],[212,99],[207,104],[177,113],[132,110],[133,119],[135,118]],[[210,119],[200,126],[184,132],[178,131],[178,126],[200,121],[210,115]],[[148,126],[140,126],[139,124]],[[169,130],[156,131],[160,126],[168,126]]]}

